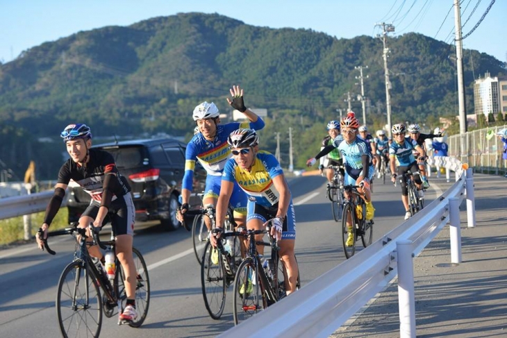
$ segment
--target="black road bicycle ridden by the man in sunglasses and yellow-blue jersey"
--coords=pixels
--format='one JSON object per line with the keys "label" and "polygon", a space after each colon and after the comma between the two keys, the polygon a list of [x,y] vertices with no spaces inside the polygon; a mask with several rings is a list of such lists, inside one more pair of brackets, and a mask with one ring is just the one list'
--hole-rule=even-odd
{"label": "black road bicycle ridden by the man in sunglasses and yellow-blue jersey", "polygon": [[[264,230],[242,228],[238,232],[248,240],[249,245],[245,258],[238,267],[234,278],[233,317],[235,325],[284,298],[287,276],[285,266],[280,262],[280,248],[276,245],[276,240],[269,235],[269,226]],[[256,241],[256,235],[266,233],[269,243]],[[256,245],[271,246],[271,257],[265,260],[265,264],[260,262],[261,256],[257,252]],[[296,287],[297,289],[301,288],[299,273]]]}

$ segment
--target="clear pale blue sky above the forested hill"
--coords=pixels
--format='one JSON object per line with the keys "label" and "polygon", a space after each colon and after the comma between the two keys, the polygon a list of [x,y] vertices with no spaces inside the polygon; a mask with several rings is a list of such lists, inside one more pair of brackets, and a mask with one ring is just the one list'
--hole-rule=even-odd
{"label": "clear pale blue sky above the forested hill", "polygon": [[[463,36],[494,0],[460,0]],[[310,28],[338,38],[376,36],[381,22],[389,36],[417,32],[454,43],[454,0],[0,0],[0,61],[44,42],[104,26],[128,26],[178,12],[218,13],[253,26]],[[475,8],[475,10],[474,10]],[[507,62],[507,1],[497,0],[463,40]]]}

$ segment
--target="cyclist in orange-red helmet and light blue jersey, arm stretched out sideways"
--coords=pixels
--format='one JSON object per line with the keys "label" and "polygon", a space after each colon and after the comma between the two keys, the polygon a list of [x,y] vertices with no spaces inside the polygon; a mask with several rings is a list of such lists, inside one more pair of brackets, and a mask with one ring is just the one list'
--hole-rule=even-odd
{"label": "cyclist in orange-red helmet and light blue jersey, arm stretched out sideways", "polygon": [[[345,165],[345,185],[360,185],[358,189],[366,203],[366,220],[371,221],[374,217],[375,209],[372,204],[372,194],[369,190],[369,182],[372,179],[374,168],[372,164],[372,153],[368,150],[366,143],[357,136],[359,121],[354,112],[348,112],[340,122],[344,141],[337,144],[333,142],[331,146],[326,146],[315,158],[306,161],[306,165],[311,167],[316,160],[329,153],[334,148],[338,148],[342,153]],[[347,194],[345,198],[347,198]],[[352,228],[352,225],[349,225]],[[347,246],[354,245],[354,235],[349,231]]]}

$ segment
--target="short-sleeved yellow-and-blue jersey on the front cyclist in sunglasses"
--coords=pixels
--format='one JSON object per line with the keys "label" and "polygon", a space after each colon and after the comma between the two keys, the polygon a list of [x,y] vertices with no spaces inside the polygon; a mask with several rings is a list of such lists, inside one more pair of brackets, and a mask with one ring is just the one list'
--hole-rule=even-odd
{"label": "short-sleeved yellow-and-blue jersey on the front cyclist in sunglasses", "polygon": [[249,201],[270,207],[278,203],[280,193],[273,184],[273,178],[283,174],[280,163],[267,151],[259,151],[251,170],[241,169],[233,158],[225,165],[222,180],[238,182]]}

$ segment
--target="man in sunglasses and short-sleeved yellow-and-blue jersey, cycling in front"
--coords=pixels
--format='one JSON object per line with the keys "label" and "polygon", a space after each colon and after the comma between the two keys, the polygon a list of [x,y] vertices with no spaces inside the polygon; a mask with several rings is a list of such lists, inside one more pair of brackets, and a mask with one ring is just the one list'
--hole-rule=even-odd
{"label": "man in sunglasses and short-sleeved yellow-and-blue jersey, cycling in front", "polygon": [[[298,267],[294,256],[296,217],[287,180],[274,155],[258,149],[259,139],[253,129],[234,130],[227,139],[233,158],[228,160],[222,174],[222,189],[217,203],[217,227],[223,227],[229,198],[236,184],[248,195],[247,228],[260,230],[272,219],[271,235],[280,247],[280,258],[285,267],[287,294],[296,291]],[[219,235],[217,235],[219,237]],[[262,240],[257,235],[256,240]],[[215,237],[211,243],[216,246]],[[258,246],[264,253],[264,246]],[[251,283],[249,283],[249,288]],[[244,294],[251,290],[240,289]]]}

